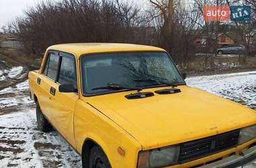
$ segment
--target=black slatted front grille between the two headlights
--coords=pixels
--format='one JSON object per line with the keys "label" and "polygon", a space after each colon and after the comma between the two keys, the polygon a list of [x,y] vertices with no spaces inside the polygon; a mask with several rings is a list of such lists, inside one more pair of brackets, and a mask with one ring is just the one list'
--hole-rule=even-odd
{"label": "black slatted front grille between the two headlights", "polygon": [[181,144],[179,162],[185,163],[230,149],[238,144],[239,130],[192,140]]}

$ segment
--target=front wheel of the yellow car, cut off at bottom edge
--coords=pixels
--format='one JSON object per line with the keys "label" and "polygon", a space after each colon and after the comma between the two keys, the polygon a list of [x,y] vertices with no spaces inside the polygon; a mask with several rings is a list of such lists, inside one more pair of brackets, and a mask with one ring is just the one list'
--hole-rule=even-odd
{"label": "front wheel of the yellow car, cut off at bottom edge", "polygon": [[110,163],[99,146],[93,146],[90,151],[89,168],[110,168]]}

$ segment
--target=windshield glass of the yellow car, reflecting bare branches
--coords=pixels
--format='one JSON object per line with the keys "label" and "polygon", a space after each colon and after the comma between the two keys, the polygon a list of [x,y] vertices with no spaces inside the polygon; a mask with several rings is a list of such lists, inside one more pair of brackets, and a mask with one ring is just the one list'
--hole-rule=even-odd
{"label": "windshield glass of the yellow car, reflecting bare branches", "polygon": [[82,56],[81,66],[84,94],[109,93],[137,87],[185,85],[165,52],[87,54]]}

